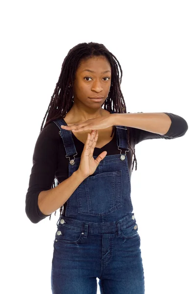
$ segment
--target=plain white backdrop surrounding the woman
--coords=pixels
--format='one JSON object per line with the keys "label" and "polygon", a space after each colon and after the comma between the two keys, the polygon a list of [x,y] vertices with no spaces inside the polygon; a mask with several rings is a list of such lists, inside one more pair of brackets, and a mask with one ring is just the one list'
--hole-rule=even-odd
{"label": "plain white backdrop surrounding the woman", "polygon": [[0,10],[0,293],[51,293],[60,212],[37,224],[26,217],[32,156],[65,56],[97,42],[122,66],[127,112],[169,112],[189,125],[183,137],[136,145],[131,199],[145,294],[195,294],[195,1],[19,0]]}

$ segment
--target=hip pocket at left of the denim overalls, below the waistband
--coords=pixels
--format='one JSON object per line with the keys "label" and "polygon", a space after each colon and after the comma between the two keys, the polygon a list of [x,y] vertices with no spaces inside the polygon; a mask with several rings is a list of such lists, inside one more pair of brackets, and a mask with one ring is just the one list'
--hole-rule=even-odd
{"label": "hip pocket at left of the denim overalls, below the waistband", "polygon": [[81,231],[73,230],[58,224],[58,229],[55,234],[55,242],[76,243],[81,236],[83,236]]}

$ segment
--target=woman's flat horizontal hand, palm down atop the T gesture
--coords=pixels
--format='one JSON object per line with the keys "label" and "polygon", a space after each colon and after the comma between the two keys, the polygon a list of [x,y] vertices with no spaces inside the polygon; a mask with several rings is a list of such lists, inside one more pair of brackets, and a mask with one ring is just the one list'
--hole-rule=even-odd
{"label": "woman's flat horizontal hand, palm down atop the T gesture", "polygon": [[86,130],[99,130],[113,126],[112,114],[100,116],[95,119],[90,119],[83,123],[70,123],[68,126],[61,125],[61,128],[69,131],[86,131]]}

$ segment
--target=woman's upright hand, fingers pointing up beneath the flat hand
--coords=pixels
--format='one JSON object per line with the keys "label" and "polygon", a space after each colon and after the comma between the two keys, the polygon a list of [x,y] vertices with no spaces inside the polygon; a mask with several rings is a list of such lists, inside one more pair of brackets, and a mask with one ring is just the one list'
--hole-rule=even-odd
{"label": "woman's upright hand, fingers pointing up beneath the flat hand", "polygon": [[96,159],[93,158],[93,152],[98,141],[98,130],[92,130],[88,133],[87,140],[84,144],[84,148],[81,154],[80,165],[78,171],[87,178],[89,175],[93,174],[99,162],[106,156],[107,151],[103,151],[98,155]]}

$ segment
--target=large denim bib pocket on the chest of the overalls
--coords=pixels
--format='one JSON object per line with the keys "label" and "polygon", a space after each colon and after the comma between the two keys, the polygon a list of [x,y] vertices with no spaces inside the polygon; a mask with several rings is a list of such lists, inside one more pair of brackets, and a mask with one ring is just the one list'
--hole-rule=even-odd
{"label": "large denim bib pocket on the chest of the overalls", "polygon": [[122,206],[122,171],[87,177],[77,188],[78,213],[106,215]]}

